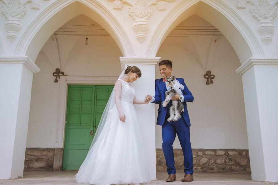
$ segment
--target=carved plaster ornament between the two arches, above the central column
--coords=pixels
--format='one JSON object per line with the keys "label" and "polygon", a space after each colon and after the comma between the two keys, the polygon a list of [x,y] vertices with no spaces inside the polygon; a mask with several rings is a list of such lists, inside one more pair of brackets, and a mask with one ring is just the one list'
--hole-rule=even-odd
{"label": "carved plaster ornament between the two arches, above the central column", "polygon": [[146,34],[149,30],[148,19],[153,13],[153,5],[156,5],[158,11],[166,10],[165,2],[173,2],[174,0],[154,0],[149,4],[145,0],[135,0],[129,2],[128,0],[108,0],[114,1],[113,9],[121,10],[123,3],[128,4],[128,14],[133,18],[133,30],[136,32],[136,39],[143,43],[146,39]]}

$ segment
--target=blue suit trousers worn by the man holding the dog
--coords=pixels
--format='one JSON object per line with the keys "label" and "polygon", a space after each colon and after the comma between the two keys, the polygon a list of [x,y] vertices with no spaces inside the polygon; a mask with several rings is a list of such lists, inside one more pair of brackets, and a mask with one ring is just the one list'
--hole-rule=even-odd
{"label": "blue suit trousers worn by the man holding the dog", "polygon": [[[169,118],[169,113],[166,114],[166,119]],[[162,149],[167,165],[168,174],[175,174],[175,160],[173,142],[175,141],[176,134],[178,134],[179,142],[183,150],[183,164],[184,173],[193,174],[193,155],[190,143],[189,126],[183,119],[183,116],[178,121],[168,122],[165,120],[162,125]]]}

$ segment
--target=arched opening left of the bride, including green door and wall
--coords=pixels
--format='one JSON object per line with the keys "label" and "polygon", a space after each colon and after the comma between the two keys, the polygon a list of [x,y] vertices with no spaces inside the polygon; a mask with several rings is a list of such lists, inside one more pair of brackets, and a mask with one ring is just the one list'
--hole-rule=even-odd
{"label": "arched opening left of the bride, including green door and wall", "polygon": [[[25,169],[79,169],[121,71],[120,56],[109,33],[83,14],[49,37],[36,59],[40,72],[33,76]],[[51,75],[56,68],[65,75],[57,83]]]}

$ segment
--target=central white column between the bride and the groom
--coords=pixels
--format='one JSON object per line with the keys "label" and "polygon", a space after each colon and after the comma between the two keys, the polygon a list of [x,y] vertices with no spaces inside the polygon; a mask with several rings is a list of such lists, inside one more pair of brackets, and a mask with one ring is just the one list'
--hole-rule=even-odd
{"label": "central white column between the bride and the groom", "polygon": [[[142,77],[133,83],[136,98],[144,100],[147,94],[155,93],[155,67],[160,57],[120,57],[122,69],[127,65],[137,66],[141,69]],[[151,179],[156,179],[155,174],[155,107],[148,105],[135,105],[137,116],[143,131],[143,141],[148,155]]]}

